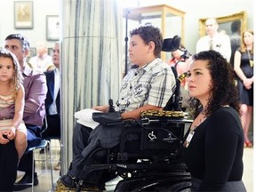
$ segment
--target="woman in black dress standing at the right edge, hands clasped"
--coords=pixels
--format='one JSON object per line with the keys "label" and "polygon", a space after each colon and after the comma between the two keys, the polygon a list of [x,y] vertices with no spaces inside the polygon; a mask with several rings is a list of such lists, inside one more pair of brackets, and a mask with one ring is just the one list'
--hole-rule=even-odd
{"label": "woman in black dress standing at the right edge, hands clasped", "polygon": [[252,123],[253,112],[253,38],[252,29],[243,33],[241,49],[235,53],[234,69],[236,71],[237,86],[241,102],[242,124],[244,128],[244,147],[252,148],[252,142],[248,137]]}

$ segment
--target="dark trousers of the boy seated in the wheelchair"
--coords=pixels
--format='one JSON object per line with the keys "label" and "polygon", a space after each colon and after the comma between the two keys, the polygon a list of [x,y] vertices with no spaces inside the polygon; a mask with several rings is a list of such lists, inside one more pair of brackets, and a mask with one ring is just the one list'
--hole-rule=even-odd
{"label": "dark trousers of the boy seated in the wheelchair", "polygon": [[[108,180],[103,177],[104,171],[87,174],[86,166],[92,164],[106,164],[107,154],[93,151],[98,148],[114,148],[119,144],[120,134],[124,131],[124,125],[109,126],[100,124],[94,130],[84,125],[76,124],[73,132],[73,161],[68,173],[86,183],[96,184]],[[93,155],[92,155],[93,154]],[[83,171],[85,168],[85,172]]]}

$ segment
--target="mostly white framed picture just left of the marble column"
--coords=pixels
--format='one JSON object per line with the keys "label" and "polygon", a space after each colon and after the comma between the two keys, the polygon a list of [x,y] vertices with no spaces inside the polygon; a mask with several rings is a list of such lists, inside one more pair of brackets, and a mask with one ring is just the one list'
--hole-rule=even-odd
{"label": "mostly white framed picture just left of the marble column", "polygon": [[58,41],[60,36],[60,20],[58,15],[46,15],[46,39]]}

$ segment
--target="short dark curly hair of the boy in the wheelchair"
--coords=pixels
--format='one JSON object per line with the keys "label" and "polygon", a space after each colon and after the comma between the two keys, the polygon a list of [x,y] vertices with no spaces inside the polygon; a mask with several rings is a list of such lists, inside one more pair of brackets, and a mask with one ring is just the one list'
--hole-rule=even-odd
{"label": "short dark curly hair of the boy in the wheelchair", "polygon": [[130,36],[133,35],[139,35],[145,44],[149,44],[150,41],[154,42],[154,54],[156,57],[160,57],[163,45],[163,36],[159,28],[156,28],[151,24],[146,24],[130,31]]}

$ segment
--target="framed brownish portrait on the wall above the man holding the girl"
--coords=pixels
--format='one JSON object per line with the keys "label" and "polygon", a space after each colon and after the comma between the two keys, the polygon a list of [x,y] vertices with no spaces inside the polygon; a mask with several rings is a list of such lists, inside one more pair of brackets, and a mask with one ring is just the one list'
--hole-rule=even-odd
{"label": "framed brownish portrait on the wall above the man holding the girl", "polygon": [[14,1],[14,28],[33,28],[33,1]]}

